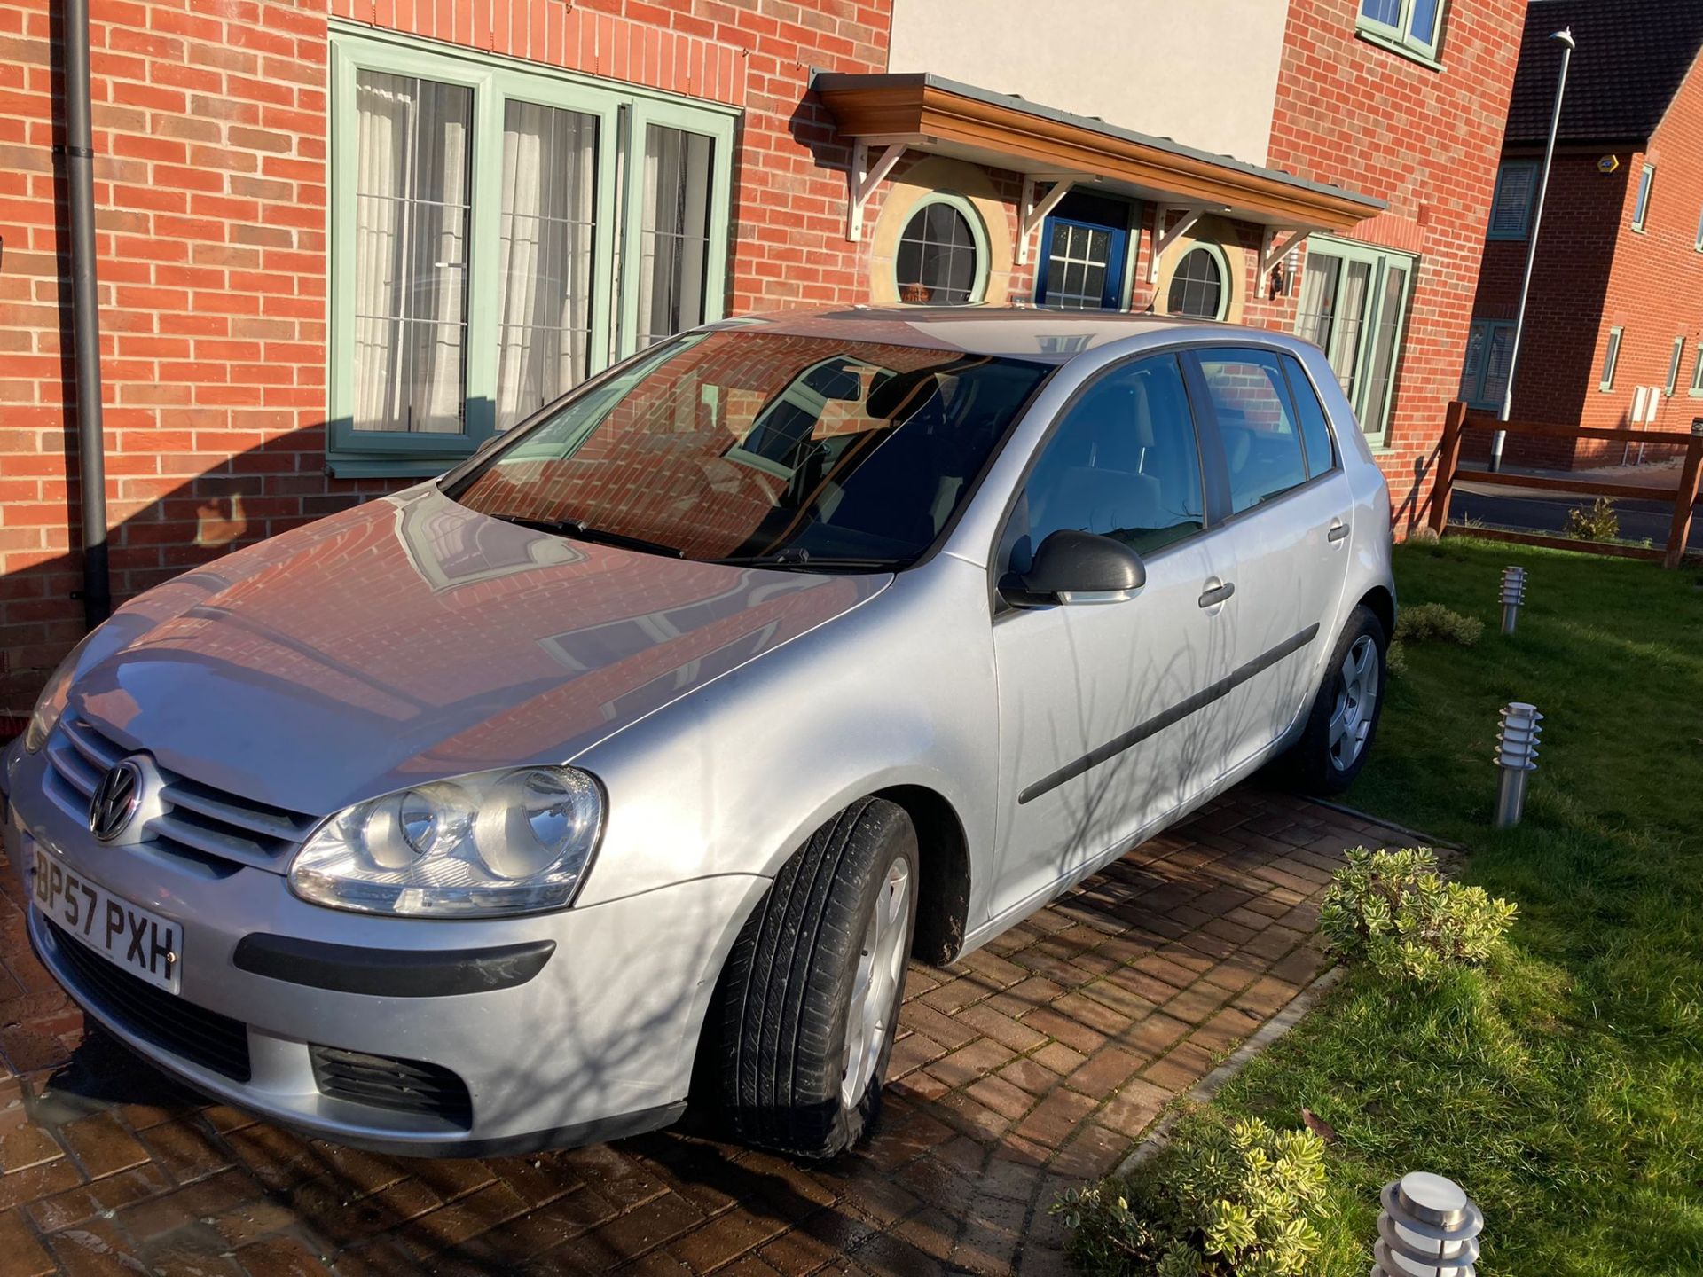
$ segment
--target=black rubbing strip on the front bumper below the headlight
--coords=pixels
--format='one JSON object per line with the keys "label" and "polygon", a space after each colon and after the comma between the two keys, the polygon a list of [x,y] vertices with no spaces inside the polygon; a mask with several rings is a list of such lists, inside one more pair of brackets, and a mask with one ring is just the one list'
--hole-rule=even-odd
{"label": "black rubbing strip on the front bumper below the headlight", "polygon": [[550,960],[553,940],[497,948],[392,950],[327,945],[286,935],[245,935],[232,962],[238,971],[373,998],[453,998],[525,984]]}

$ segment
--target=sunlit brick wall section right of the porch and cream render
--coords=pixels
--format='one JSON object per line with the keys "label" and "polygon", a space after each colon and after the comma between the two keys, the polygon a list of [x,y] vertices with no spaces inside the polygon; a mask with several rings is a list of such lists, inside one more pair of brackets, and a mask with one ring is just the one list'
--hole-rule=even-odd
{"label": "sunlit brick wall section right of the porch and cream render", "polygon": [[1526,0],[1446,5],[1441,72],[1357,39],[1356,10],[1291,3],[1269,163],[1386,199],[1350,238],[1420,254],[1379,458],[1402,535],[1424,519],[1461,383]]}

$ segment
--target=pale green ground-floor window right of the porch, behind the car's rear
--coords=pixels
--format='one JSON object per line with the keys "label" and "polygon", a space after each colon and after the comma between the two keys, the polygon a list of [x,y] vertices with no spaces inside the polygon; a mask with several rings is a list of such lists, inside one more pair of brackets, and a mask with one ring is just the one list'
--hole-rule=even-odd
{"label": "pale green ground-floor window right of the porch, behind the car's rear", "polygon": [[1373,446],[1390,438],[1417,276],[1419,257],[1412,254],[1333,235],[1306,240],[1294,330],[1323,347]]}

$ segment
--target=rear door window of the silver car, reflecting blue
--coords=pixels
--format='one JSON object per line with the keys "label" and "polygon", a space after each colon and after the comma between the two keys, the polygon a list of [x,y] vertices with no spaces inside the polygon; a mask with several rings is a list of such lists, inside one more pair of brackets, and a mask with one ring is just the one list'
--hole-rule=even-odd
{"label": "rear door window of the silver car, reflecting blue", "polygon": [[1206,393],[1230,472],[1230,509],[1240,514],[1306,482],[1301,431],[1272,351],[1199,351]]}

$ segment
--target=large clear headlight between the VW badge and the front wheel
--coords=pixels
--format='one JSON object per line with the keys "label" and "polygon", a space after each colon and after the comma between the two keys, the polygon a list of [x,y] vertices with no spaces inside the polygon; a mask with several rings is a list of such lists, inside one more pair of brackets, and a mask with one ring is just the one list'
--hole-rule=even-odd
{"label": "large clear headlight between the VW badge and the front wheel", "polygon": [[480,771],[346,807],[296,853],[290,885],[334,909],[490,918],[574,899],[603,790],[574,768]]}

